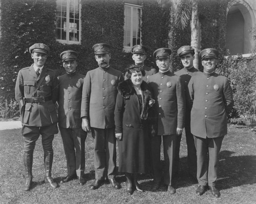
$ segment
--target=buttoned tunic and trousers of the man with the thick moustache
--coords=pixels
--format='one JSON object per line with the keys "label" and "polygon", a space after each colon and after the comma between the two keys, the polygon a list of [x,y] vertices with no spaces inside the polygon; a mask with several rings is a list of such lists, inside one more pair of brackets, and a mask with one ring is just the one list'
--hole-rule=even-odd
{"label": "buttoned tunic and trousers of the man with the thick moustache", "polygon": [[[117,86],[123,81],[120,71],[98,67],[87,73],[83,81],[81,118],[90,121],[94,137],[95,178],[112,179],[116,167],[114,110]],[[95,135],[94,135],[95,134]],[[106,172],[106,176],[104,175]]]}

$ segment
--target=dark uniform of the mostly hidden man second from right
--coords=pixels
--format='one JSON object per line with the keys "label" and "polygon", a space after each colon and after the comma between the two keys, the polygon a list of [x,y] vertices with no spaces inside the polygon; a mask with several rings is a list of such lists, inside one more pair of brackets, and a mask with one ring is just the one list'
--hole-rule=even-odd
{"label": "dark uniform of the mostly hidden man second from right", "polygon": [[[175,72],[174,74],[180,76],[181,82],[184,87],[185,97],[186,97],[186,112],[185,112],[185,135],[186,135],[186,144],[187,144],[187,165],[188,165],[188,173],[193,177],[196,177],[197,174],[197,150],[195,147],[195,142],[193,138],[193,134],[190,131],[190,110],[189,107],[189,93],[187,90],[188,82],[190,81],[191,77],[194,76],[198,69],[195,67],[191,67],[187,69],[183,67],[183,69]],[[175,160],[174,160],[174,174],[178,174],[179,172],[179,159],[180,159],[180,142],[181,136],[177,135],[176,140],[176,148],[175,148]]]}

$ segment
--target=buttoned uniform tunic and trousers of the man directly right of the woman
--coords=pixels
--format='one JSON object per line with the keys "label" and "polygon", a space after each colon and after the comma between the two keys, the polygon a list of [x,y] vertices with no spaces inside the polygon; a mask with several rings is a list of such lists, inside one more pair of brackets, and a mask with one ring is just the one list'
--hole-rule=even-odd
{"label": "buttoned uniform tunic and trousers of the man directly right of the woman", "polygon": [[161,135],[164,146],[164,184],[172,185],[172,170],[177,127],[183,128],[185,114],[184,87],[179,76],[170,71],[149,76],[148,85],[153,89],[156,135],[152,138],[152,163],[154,182],[160,183]]}

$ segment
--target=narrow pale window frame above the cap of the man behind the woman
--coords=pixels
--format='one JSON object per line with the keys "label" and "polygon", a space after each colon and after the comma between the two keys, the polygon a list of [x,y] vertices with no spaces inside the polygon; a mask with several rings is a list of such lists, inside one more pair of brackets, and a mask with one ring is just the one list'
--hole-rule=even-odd
{"label": "narrow pale window frame above the cap of the man behind the woman", "polygon": [[[140,9],[140,44],[142,45],[142,32],[141,32],[141,25],[142,25],[142,6],[141,5],[136,5],[136,4],[129,4],[129,3],[124,3],[124,6],[130,6],[131,9],[131,18],[134,16],[133,15],[133,8],[139,8]],[[125,17],[125,15],[124,15]],[[123,28],[124,30],[124,28]],[[125,34],[124,34],[125,35]],[[126,36],[123,35],[123,43],[124,43],[124,38]],[[130,37],[131,42],[133,42],[133,20],[131,19],[131,37]],[[131,44],[131,46],[124,46],[123,45],[123,51],[126,53],[131,52],[133,45]]]}

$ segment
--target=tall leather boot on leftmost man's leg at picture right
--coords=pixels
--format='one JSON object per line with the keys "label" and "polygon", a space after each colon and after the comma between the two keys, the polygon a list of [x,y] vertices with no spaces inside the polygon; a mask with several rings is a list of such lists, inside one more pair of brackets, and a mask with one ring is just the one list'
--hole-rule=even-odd
{"label": "tall leather boot on leftmost man's leg at picture right", "polygon": [[57,188],[58,185],[56,182],[53,181],[52,178],[52,162],[53,162],[53,152],[45,152],[45,171],[46,171],[46,175],[45,175],[45,183],[49,183],[50,187],[52,188]]}

